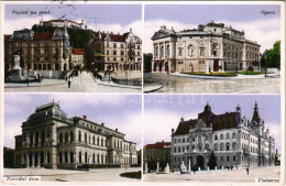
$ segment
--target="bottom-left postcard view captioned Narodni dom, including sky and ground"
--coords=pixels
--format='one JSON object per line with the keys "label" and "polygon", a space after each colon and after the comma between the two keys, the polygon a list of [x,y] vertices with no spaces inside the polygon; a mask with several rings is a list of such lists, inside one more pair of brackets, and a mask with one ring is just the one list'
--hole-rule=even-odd
{"label": "bottom-left postcard view captioned Narodni dom, including sky and ground", "polygon": [[141,95],[6,94],[3,179],[141,182]]}

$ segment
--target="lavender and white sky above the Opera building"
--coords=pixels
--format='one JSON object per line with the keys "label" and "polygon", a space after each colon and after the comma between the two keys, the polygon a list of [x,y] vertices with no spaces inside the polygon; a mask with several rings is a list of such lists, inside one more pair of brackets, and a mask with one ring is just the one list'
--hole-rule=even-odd
{"label": "lavender and white sky above the Opera building", "polygon": [[[273,11],[275,14],[264,14]],[[280,40],[280,8],[270,4],[151,4],[145,7],[144,53],[153,53],[151,37],[162,25],[176,32],[197,29],[208,22],[224,23],[245,32],[248,40],[261,44],[261,53]]]}

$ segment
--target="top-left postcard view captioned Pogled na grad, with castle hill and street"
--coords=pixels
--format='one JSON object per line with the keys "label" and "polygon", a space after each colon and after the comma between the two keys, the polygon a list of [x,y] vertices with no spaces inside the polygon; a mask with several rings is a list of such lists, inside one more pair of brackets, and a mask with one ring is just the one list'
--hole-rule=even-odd
{"label": "top-left postcard view captioned Pogled na grad, with castle hill and street", "polygon": [[142,92],[142,6],[4,3],[6,92]]}

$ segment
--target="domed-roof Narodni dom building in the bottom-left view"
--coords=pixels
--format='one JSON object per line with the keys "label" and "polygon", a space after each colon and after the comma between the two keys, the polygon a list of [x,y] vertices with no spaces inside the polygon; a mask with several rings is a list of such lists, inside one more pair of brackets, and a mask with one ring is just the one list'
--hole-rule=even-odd
{"label": "domed-roof Narodni dom building in the bottom-left view", "polygon": [[136,144],[118,129],[68,116],[59,103],[37,107],[15,136],[16,167],[77,168],[84,164],[138,164]]}

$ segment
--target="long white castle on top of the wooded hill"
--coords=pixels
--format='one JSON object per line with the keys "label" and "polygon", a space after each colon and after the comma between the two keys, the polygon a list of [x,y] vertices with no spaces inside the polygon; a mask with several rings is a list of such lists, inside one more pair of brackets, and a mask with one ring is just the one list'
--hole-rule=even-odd
{"label": "long white castle on top of the wooded hill", "polygon": [[50,20],[50,21],[43,21],[43,19],[40,21],[40,26],[53,26],[53,28],[73,28],[73,29],[85,29],[85,21],[81,20],[80,23],[77,23],[75,21],[70,20]]}

